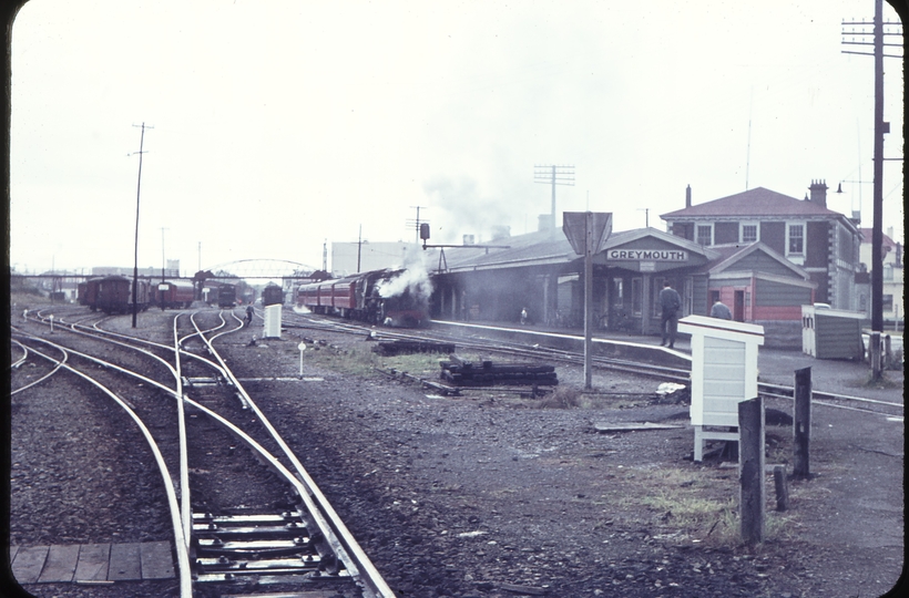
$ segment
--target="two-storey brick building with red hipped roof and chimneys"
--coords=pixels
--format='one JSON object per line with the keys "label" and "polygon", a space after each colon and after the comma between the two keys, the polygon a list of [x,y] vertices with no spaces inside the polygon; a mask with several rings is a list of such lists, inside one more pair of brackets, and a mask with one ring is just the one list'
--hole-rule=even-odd
{"label": "two-storey brick building with red hipped roof and chimneys", "polygon": [[670,233],[704,247],[759,241],[808,272],[815,301],[858,310],[856,272],[861,234],[857,221],[827,208],[827,185],[813,181],[810,195],[797,199],[756,187],[663,214]]}

